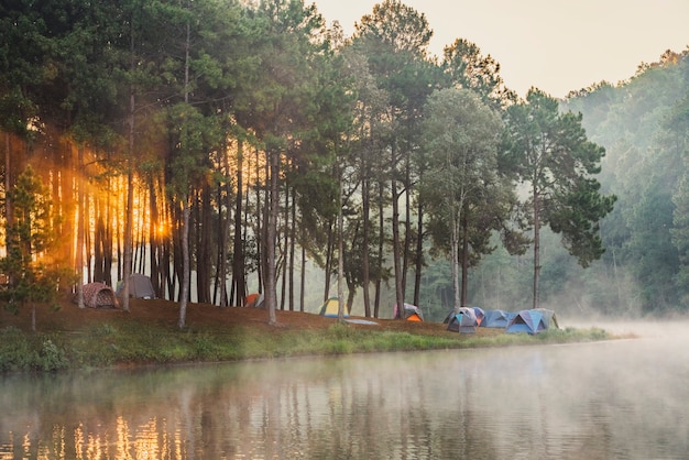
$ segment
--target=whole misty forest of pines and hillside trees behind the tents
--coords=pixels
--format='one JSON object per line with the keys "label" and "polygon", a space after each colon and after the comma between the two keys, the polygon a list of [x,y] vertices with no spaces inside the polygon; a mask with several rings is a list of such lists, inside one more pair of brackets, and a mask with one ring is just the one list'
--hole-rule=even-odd
{"label": "whole misty forest of pines and hillside trees behind the tents", "polygon": [[[688,52],[524,99],[384,0],[0,7],[10,304],[144,273],[156,295],[357,315],[689,306]],[[460,31],[461,32],[461,31]]]}

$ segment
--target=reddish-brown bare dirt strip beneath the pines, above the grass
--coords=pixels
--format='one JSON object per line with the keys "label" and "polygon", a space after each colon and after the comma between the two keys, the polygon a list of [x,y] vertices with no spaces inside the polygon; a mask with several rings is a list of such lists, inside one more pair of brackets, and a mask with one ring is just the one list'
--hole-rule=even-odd
{"label": "reddish-brown bare dirt strip beneath the pines, above the grass", "polygon": [[[0,328],[15,326],[23,330],[31,330],[31,306],[20,308],[17,315],[0,308]],[[337,322],[337,318],[300,313],[277,310],[277,326],[269,325],[269,313],[261,308],[227,307],[219,308],[207,304],[189,304],[187,306],[186,325],[194,330],[227,330],[233,327],[270,328],[275,331],[295,329],[327,329]],[[45,305],[36,306],[36,331],[76,331],[94,322],[117,321],[118,319],[133,319],[145,324],[158,324],[176,328],[179,319],[178,304],[168,300],[131,299],[130,310],[120,308],[79,308],[68,299],[61,303],[59,309]],[[440,322],[413,322],[395,319],[376,319],[350,317],[349,319],[367,319],[375,325],[351,324],[354,328],[373,328],[376,330],[408,331],[419,335],[459,336],[446,330]],[[477,335],[501,333],[502,330],[477,328]]]}

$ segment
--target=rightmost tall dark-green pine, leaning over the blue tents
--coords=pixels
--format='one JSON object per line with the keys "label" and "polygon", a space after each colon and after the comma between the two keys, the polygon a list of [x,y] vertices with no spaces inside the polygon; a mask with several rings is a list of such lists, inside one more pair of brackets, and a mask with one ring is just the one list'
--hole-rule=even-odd
{"label": "rightmost tall dark-green pine, leaning over the blue tents", "polygon": [[560,113],[557,100],[532,88],[507,109],[510,156],[521,183],[529,186],[534,236],[533,307],[539,305],[540,229],[561,233],[562,243],[587,267],[604,249],[599,221],[616,197],[601,195],[593,175],[605,151],[589,141],[581,114]]}

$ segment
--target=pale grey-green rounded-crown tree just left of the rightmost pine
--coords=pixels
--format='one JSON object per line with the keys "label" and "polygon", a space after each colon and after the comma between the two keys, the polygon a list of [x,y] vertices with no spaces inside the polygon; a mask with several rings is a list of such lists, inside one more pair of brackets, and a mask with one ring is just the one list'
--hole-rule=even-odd
{"label": "pale grey-green rounded-crown tree just left of the rightmost pine", "polygon": [[[428,100],[426,114],[424,145],[428,171],[423,197],[430,202],[428,212],[436,220],[434,227],[449,230],[436,232],[435,237],[442,240],[449,233],[449,244],[446,244],[450,248],[453,307],[458,311],[467,305],[469,205],[484,197],[484,206],[500,206],[499,202],[491,202],[497,198],[496,194],[490,198],[486,195],[499,184],[497,144],[502,123],[474,92],[467,89],[436,91]],[[462,242],[463,249],[460,250]],[[463,262],[461,288],[460,260]]]}

